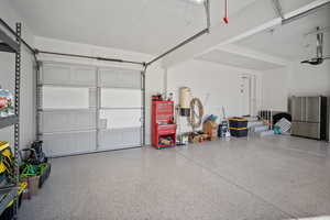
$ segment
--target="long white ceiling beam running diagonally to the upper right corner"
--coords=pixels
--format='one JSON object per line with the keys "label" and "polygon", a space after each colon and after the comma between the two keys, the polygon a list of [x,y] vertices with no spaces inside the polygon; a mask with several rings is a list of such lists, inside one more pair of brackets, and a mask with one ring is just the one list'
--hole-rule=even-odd
{"label": "long white ceiling beam running diagonally to the upper right corner", "polygon": [[[316,0],[296,10],[283,14],[285,19],[295,18],[306,11],[314,11],[316,8],[328,4],[330,0]],[[260,13],[255,13],[258,11]],[[234,43],[242,38],[254,35],[258,32],[283,24],[283,19],[274,11],[268,1],[258,0],[249,6],[244,11],[232,16],[230,25],[218,25],[211,29],[209,35],[200,37],[195,44],[186,45],[184,48],[173,53],[163,59],[163,66],[170,67],[184,61],[198,57],[212,50],[227,44]]]}

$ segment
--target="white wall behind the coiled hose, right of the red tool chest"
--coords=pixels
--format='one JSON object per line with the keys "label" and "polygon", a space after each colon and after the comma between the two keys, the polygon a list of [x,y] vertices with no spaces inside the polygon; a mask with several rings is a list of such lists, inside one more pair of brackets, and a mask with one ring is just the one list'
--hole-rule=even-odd
{"label": "white wall behind the coiled hose, right of the red tool chest", "polygon": [[[229,67],[202,61],[189,61],[167,69],[167,94],[173,92],[177,103],[178,89],[189,87],[193,97],[202,101],[205,114],[222,118],[222,107],[227,117],[241,116],[240,76],[255,75],[256,108],[261,106],[261,73]],[[182,121],[182,132],[190,131],[185,119]]]}

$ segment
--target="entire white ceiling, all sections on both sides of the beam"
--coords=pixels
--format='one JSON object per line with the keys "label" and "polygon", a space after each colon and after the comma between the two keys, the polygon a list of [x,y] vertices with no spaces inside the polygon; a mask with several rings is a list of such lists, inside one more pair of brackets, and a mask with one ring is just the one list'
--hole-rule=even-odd
{"label": "entire white ceiling, all sections on both sides of the beam", "polygon": [[[315,0],[279,0],[284,13]],[[11,0],[32,31],[44,37],[160,54],[206,26],[202,4],[190,0]],[[223,0],[210,0],[211,23],[221,24]],[[251,3],[264,0],[230,0],[230,18],[240,15]],[[267,0],[270,13],[271,0]],[[275,26],[235,42],[238,46],[285,59],[315,56],[316,37],[305,36],[316,26],[330,26],[330,7],[286,25]],[[230,23],[234,29],[235,23]],[[330,53],[330,33],[324,54]],[[213,50],[198,59],[242,68],[265,70],[280,67],[238,53]]]}

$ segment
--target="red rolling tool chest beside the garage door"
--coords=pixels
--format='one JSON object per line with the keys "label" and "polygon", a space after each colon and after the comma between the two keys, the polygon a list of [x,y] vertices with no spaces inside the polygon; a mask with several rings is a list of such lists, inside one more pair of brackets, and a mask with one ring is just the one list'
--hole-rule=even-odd
{"label": "red rolling tool chest beside the garage door", "polygon": [[152,102],[152,145],[156,148],[176,145],[174,102]]}

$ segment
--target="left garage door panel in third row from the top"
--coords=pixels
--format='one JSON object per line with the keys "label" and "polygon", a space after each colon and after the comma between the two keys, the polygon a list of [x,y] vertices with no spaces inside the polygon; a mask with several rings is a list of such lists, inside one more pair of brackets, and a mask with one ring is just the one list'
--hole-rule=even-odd
{"label": "left garage door panel in third row from the top", "polygon": [[96,130],[96,110],[43,111],[40,116],[40,128],[45,133]]}

